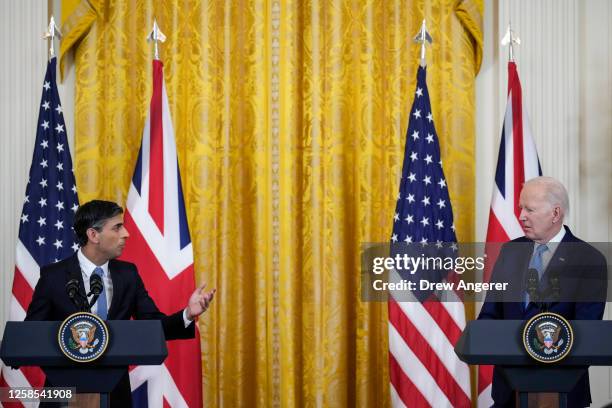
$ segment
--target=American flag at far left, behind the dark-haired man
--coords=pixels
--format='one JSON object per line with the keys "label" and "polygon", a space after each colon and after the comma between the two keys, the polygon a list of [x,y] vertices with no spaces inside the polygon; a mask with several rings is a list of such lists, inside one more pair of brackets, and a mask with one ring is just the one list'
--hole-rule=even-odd
{"label": "American flag at far left, behind the dark-haired man", "polygon": [[[9,320],[25,318],[40,267],[67,258],[78,249],[72,223],[79,198],[55,70],[56,59],[52,58],[43,83],[34,155],[19,223]],[[36,387],[43,383],[44,374],[37,367],[2,367],[2,387]]]}

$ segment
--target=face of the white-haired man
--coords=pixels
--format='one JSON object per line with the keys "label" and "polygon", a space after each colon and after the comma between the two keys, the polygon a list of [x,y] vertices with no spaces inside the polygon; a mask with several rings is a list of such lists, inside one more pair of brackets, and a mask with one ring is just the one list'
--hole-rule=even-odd
{"label": "face of the white-haired man", "polygon": [[545,187],[526,184],[519,199],[520,221],[525,236],[537,243],[546,243],[561,228],[561,209],[546,199]]}

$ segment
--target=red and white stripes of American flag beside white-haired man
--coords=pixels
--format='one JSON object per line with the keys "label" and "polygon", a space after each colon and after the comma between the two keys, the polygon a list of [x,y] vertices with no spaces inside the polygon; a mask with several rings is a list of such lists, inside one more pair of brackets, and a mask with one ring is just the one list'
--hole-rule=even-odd
{"label": "red and white stripes of American flag beside white-haired man", "polygon": [[[396,272],[390,280],[399,281]],[[406,296],[406,293],[401,295]],[[455,302],[389,299],[389,376],[394,407],[470,407],[470,373],[454,351],[465,327]]]}

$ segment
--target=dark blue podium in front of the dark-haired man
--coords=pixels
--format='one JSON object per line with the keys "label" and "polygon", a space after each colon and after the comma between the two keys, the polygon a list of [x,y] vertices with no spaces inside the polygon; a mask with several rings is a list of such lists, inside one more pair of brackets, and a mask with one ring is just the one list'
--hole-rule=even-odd
{"label": "dark blue podium in front of the dark-haired man", "polygon": [[99,393],[100,406],[109,406],[128,365],[159,365],[168,355],[159,320],[108,320],[110,341],[106,352],[90,363],[64,356],[58,345],[61,322],[7,322],[0,346],[5,365],[40,366],[54,387],[76,387],[77,393]]}

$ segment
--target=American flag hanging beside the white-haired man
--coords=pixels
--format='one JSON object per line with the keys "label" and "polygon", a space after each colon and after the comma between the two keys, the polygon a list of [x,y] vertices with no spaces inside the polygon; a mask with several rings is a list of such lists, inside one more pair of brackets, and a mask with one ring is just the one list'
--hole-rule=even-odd
{"label": "American flag hanging beside the white-haired man", "polygon": [[[423,67],[417,72],[410,110],[391,242],[438,246],[456,242]],[[470,406],[469,370],[454,352],[465,327],[463,303],[458,299],[401,302],[392,296],[389,374],[393,406]]]}

